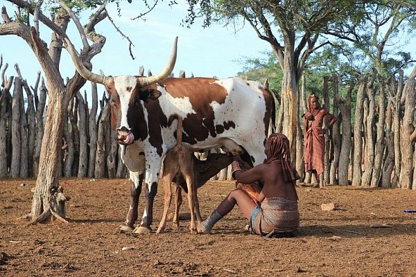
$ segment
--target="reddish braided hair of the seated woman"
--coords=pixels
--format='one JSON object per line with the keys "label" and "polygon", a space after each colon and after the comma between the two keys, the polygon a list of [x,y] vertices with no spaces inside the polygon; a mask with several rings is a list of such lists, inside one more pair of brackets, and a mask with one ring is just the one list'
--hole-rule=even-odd
{"label": "reddish braided hair of the seated woman", "polygon": [[266,141],[268,157],[265,163],[281,163],[283,166],[283,175],[285,182],[295,182],[300,179],[299,174],[291,163],[291,151],[289,149],[289,140],[284,134],[271,134]]}

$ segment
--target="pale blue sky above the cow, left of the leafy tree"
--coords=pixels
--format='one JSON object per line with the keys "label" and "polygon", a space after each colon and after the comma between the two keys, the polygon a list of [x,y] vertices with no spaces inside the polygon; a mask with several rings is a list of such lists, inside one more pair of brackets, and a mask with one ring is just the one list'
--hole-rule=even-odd
{"label": "pale blue sky above the cow, left of the leafy tree", "polygon": [[[8,15],[14,15],[15,8],[6,1],[1,2],[1,6],[5,5],[8,9]],[[148,14],[146,21],[131,20],[143,11],[136,3],[123,5],[120,17],[115,5],[110,4],[107,10],[115,24],[135,45],[132,47],[135,60],[130,57],[127,39],[116,33],[110,21],[101,21],[96,26],[96,32],[105,35],[107,41],[103,51],[92,59],[94,73],[99,73],[102,69],[106,75],[138,75],[139,66],[144,66],[145,75],[148,69],[155,74],[166,65],[176,36],[178,43],[177,62],[173,71],[175,76],[180,70],[184,70],[187,76],[193,73],[194,76],[202,77],[232,77],[243,69],[239,60],[244,57],[259,57],[261,52],[270,49],[268,43],[259,39],[249,25],[241,24],[238,31],[224,25],[202,28],[202,21],[197,21],[191,28],[181,26],[180,23],[186,15],[184,5],[169,7],[166,2],[159,3]],[[91,13],[83,13],[81,24],[87,23]],[[79,51],[82,46],[80,35],[72,23],[68,35]],[[49,44],[49,28],[40,26],[40,36]],[[41,67],[23,39],[12,35],[0,36],[0,53],[3,55],[3,64],[9,64],[6,75],[16,75],[12,65],[18,63],[29,85],[35,83],[37,71]],[[60,72],[64,78],[71,77],[75,68],[67,51],[62,53]]]}

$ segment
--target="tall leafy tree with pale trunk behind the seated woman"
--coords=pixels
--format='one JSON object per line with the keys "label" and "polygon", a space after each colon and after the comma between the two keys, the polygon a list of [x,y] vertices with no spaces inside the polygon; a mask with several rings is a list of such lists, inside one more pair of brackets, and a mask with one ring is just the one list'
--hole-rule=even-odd
{"label": "tall leafy tree with pale trunk behind the seated woman", "polygon": [[[349,11],[356,8],[356,1],[200,0],[191,3],[200,5],[206,25],[213,20],[225,20],[229,24],[242,18],[260,39],[270,44],[284,73],[280,109],[284,120],[278,131],[288,136],[291,152],[295,152],[299,122],[298,84],[305,62],[313,51],[330,43],[326,39],[318,42],[320,31],[328,24],[349,17]],[[197,15],[191,10],[187,22],[193,23],[193,17]]]}

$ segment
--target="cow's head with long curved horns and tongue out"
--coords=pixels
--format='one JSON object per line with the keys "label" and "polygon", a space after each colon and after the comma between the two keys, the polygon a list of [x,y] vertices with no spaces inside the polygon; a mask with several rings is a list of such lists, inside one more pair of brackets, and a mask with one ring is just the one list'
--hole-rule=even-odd
{"label": "cow's head with long curved horns and tongue out", "polygon": [[78,73],[91,82],[96,82],[105,86],[105,89],[110,96],[111,123],[112,128],[116,131],[117,140],[119,143],[125,145],[133,143],[133,141],[135,141],[135,136],[132,133],[132,121],[140,120],[141,118],[134,118],[133,116],[130,116],[130,114],[135,115],[135,109],[137,109],[137,106],[141,105],[140,101],[155,100],[161,95],[159,91],[149,89],[148,86],[162,81],[171,75],[176,62],[177,37],[175,37],[168,64],[166,64],[165,68],[160,73],[149,77],[138,77],[133,75],[110,77],[92,73],[82,62],[80,62],[78,54],[69,40],[67,41],[67,44],[69,54],[71,55]]}

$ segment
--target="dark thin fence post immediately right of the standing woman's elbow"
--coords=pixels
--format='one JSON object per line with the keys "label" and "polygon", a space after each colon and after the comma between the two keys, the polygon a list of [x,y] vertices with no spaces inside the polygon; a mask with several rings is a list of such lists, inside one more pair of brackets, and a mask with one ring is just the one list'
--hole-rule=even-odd
{"label": "dark thin fence post immediately right of the standing woman's elbow", "polygon": [[333,75],[333,115],[336,116],[337,121],[332,126],[332,141],[333,141],[333,160],[331,163],[331,170],[329,172],[329,183],[333,185],[338,185],[338,163],[340,161],[340,145],[341,145],[341,135],[340,135],[340,118],[338,116],[338,105],[336,104],[336,99],[338,99],[338,76]]}

